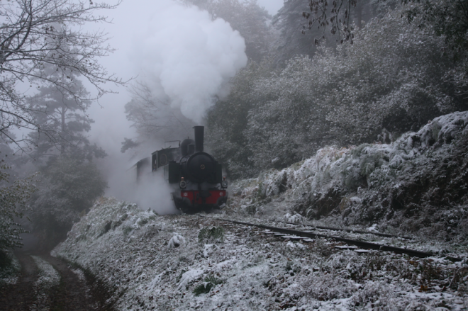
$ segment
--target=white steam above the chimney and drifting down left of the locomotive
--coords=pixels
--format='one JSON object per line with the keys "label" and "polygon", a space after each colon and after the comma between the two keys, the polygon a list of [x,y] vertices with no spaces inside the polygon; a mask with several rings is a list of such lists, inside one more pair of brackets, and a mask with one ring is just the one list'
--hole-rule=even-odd
{"label": "white steam above the chimney and drifting down left of the locomotive", "polygon": [[[229,79],[247,64],[244,39],[238,31],[221,18],[212,21],[196,6],[172,0],[135,0],[101,13],[112,23],[98,26],[111,36],[108,43],[116,48],[100,60],[108,72],[133,79],[128,86],[137,81],[147,84],[153,96],[179,109],[194,124],[203,125],[213,96],[226,96]],[[96,29],[96,25],[92,27]],[[175,137],[155,136],[150,144],[122,154],[123,137],[135,138],[137,133],[126,120],[128,89],[110,87],[118,94],[106,94],[99,105],[89,109],[90,118],[95,120],[91,140],[108,154],[99,161],[108,179],[106,196],[136,201],[140,208],[158,213],[173,212],[172,202],[165,200],[169,188],[162,176],[153,176],[135,188],[131,167]],[[191,129],[184,133],[193,137]]]}

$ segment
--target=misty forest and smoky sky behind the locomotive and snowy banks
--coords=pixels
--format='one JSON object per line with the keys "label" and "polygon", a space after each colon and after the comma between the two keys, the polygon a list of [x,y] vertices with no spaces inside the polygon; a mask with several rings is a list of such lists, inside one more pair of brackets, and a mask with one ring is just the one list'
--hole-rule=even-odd
{"label": "misty forest and smoky sky behind the locomotive and snowy banks", "polygon": [[[194,125],[235,181],[325,146],[395,142],[468,108],[456,1],[330,4],[350,12],[308,0],[60,1],[70,20],[41,22],[33,61],[20,48],[4,54],[21,52],[3,61],[1,93],[11,110],[2,111],[0,177],[24,190],[9,198],[4,227],[15,234],[11,215],[30,215],[30,230],[58,242],[103,195],[175,213],[162,176],[137,186],[133,165],[192,137]],[[2,7],[13,17],[22,5]]]}

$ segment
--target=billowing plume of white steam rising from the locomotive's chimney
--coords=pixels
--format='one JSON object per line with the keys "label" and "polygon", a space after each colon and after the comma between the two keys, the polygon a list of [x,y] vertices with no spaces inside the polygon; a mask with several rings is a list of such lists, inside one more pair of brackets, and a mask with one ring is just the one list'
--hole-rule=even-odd
{"label": "billowing plume of white steam rising from the locomotive's chimney", "polygon": [[132,58],[154,94],[200,123],[213,96],[227,95],[228,80],[247,64],[244,39],[196,6],[170,0],[156,6],[147,29],[135,37]]}

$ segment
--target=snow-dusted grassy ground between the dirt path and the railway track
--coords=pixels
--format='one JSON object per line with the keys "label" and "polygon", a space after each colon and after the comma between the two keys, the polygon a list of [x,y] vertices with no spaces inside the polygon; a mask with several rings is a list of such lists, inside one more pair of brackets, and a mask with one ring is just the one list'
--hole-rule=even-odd
{"label": "snow-dusted grassy ground between the dirt path and the railway track", "polygon": [[222,237],[199,239],[204,228],[220,227],[215,217],[162,217],[102,198],[54,255],[104,281],[117,310],[468,307],[466,259],[360,254],[325,239],[293,242],[233,225]]}

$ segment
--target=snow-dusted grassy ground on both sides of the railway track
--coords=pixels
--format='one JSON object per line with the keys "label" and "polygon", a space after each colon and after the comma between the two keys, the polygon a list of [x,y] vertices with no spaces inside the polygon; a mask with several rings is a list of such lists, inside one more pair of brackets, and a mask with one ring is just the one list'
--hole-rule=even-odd
{"label": "snow-dusted grassy ground on both sides of the railway track", "polygon": [[[468,135],[467,126],[468,113],[452,113],[389,145],[325,147],[282,171],[234,183],[227,206],[205,217],[159,216],[101,198],[53,254],[108,285],[116,310],[467,310],[468,206],[457,194],[463,179],[455,192],[445,188],[457,201],[439,209],[445,200],[431,203],[438,227],[430,215],[423,215],[429,225],[417,222],[417,209],[384,205],[392,193],[403,196],[401,189],[410,189],[401,200],[417,205],[408,196],[411,178],[429,164],[447,159],[457,172],[461,162],[449,158],[460,154],[456,144]],[[430,198],[441,185],[423,194]],[[408,231],[411,217],[416,225]],[[347,226],[369,233],[327,234],[434,256],[358,252],[331,239],[296,242],[218,218],[277,227]],[[372,234],[382,231],[414,239]]]}

